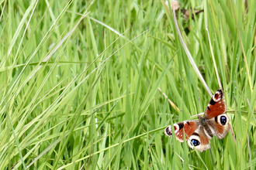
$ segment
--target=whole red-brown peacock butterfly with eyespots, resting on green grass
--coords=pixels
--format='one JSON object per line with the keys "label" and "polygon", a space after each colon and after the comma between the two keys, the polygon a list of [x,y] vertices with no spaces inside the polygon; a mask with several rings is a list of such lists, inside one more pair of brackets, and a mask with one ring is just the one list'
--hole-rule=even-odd
{"label": "whole red-brown peacock butterfly with eyespots, resting on green grass", "polygon": [[[224,138],[230,131],[230,118],[226,114],[227,104],[223,96],[223,90],[219,89],[213,94],[203,117],[197,115],[199,120],[182,121],[174,125],[176,139],[184,141],[183,130],[185,131],[185,140],[188,141],[190,148],[198,151],[209,149],[209,140],[215,135],[217,138]],[[171,125],[164,129],[164,134],[171,137]],[[194,146],[194,147],[193,147]]]}

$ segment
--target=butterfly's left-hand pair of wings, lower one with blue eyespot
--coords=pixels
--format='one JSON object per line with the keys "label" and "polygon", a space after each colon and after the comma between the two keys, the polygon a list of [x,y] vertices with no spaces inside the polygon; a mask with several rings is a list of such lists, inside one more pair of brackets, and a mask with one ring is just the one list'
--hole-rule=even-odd
{"label": "butterfly's left-hand pair of wings, lower one with blue eyespot", "polygon": [[[185,139],[188,141],[190,148],[195,146],[198,151],[204,151],[209,149],[209,140],[211,139],[209,135],[206,135],[203,131],[202,125],[198,120],[182,121],[178,124],[173,124],[175,130],[175,137],[178,141],[183,142],[183,130],[185,132]],[[171,125],[164,129],[164,134],[171,137],[173,134],[171,131]],[[193,145],[192,145],[193,144]]]}

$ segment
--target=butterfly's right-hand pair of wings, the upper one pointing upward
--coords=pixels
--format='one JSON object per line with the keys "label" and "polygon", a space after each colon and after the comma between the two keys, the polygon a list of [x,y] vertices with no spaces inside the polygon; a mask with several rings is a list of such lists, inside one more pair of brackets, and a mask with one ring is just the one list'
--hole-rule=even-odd
{"label": "butterfly's right-hand pair of wings, the upper one pointing upward", "polygon": [[224,138],[230,131],[230,118],[226,114],[227,104],[223,90],[216,90],[206,107],[204,118],[209,128],[217,138]]}

